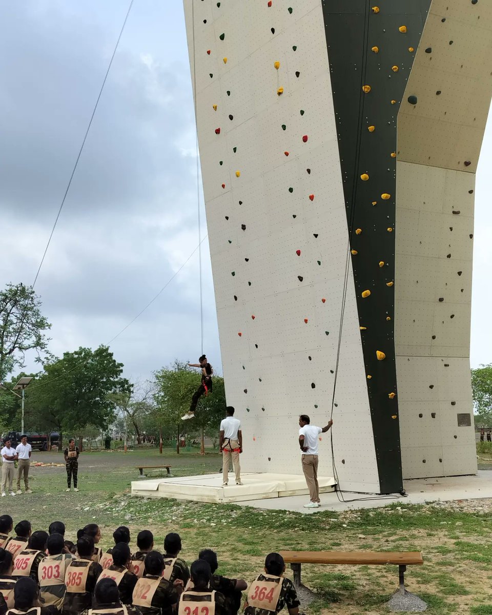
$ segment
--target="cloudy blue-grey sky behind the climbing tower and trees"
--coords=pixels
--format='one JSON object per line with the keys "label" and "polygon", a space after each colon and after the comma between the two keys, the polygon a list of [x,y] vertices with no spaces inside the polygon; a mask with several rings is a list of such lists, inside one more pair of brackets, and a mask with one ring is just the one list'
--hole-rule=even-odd
{"label": "cloudy blue-grey sky behind the climbing tower and trees", "polygon": [[[34,280],[128,6],[0,5],[2,287]],[[194,135],[182,2],[135,0],[36,283],[55,355],[108,343],[197,247]],[[489,125],[476,189],[473,367],[492,362],[491,166]],[[204,351],[221,372],[206,240],[202,249]],[[126,376],[146,378],[175,358],[195,362],[200,338],[196,253],[111,350]]]}

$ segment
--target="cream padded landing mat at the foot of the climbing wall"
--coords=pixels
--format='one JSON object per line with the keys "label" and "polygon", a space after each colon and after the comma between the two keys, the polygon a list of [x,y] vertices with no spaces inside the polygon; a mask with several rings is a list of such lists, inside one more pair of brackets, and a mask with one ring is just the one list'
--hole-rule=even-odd
{"label": "cream padded landing mat at the foot of the climbing wall", "polygon": [[[309,500],[306,499],[309,491],[303,475],[252,473],[243,474],[241,481],[243,485],[236,485],[234,475],[231,475],[229,485],[223,486],[220,474],[138,480],[132,482],[132,495],[225,503],[292,496],[303,496],[304,503]],[[318,477],[318,483],[320,493],[335,489],[332,477]]]}

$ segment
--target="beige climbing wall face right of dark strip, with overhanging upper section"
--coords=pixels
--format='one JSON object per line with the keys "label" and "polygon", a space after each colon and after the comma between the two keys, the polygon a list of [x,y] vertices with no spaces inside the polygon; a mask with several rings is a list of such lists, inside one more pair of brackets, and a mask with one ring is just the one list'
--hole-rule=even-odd
{"label": "beige climbing wall face right of dark strip, with overhanging upper section", "polygon": [[404,478],[477,470],[469,362],[474,173],[491,75],[492,3],[434,0],[398,117],[395,347]]}

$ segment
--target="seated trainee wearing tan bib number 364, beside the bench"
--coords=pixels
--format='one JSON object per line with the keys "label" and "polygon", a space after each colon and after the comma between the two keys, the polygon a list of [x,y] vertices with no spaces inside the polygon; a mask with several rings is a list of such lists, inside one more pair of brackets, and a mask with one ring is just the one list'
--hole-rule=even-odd
{"label": "seated trainee wearing tan bib number 364, beside the bench", "polygon": [[248,589],[245,615],[271,615],[287,606],[289,615],[298,615],[300,601],[295,587],[283,576],[285,562],[282,555],[269,553],[263,573],[258,574]]}

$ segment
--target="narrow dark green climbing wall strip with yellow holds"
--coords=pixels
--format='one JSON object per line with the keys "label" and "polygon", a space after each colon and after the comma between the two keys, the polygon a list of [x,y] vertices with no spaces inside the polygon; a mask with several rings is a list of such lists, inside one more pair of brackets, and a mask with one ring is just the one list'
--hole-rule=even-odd
{"label": "narrow dark green climbing wall strip with yellow holds", "polygon": [[409,104],[403,92],[431,0],[322,4],[379,482],[381,493],[394,493],[402,489],[393,318],[397,114]]}

